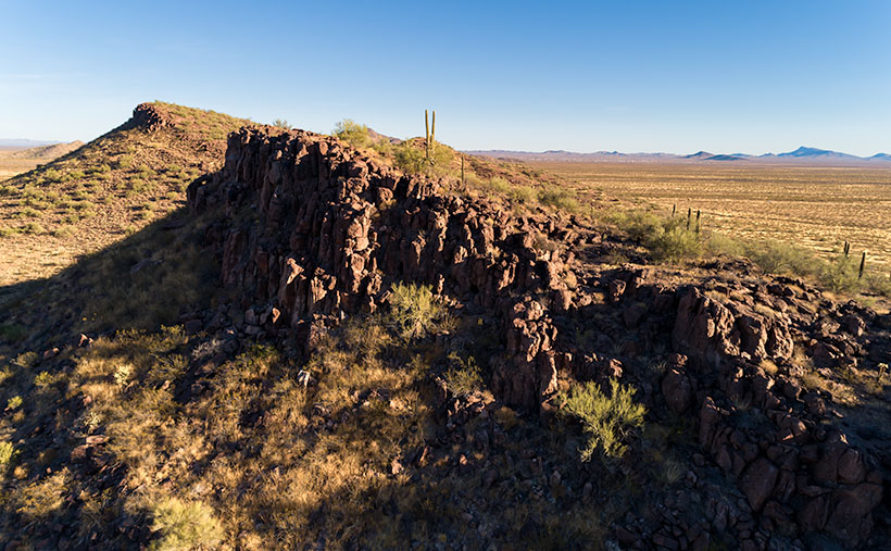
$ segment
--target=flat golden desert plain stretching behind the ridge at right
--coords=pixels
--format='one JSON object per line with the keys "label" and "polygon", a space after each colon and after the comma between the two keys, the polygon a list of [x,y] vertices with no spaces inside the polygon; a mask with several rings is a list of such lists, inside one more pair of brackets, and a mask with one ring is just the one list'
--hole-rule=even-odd
{"label": "flat golden desert plain stretching behind the ridge at right", "polygon": [[871,265],[891,265],[891,171],[870,167],[655,163],[530,163],[589,198],[703,212],[703,227],[799,245],[831,258],[848,240]]}

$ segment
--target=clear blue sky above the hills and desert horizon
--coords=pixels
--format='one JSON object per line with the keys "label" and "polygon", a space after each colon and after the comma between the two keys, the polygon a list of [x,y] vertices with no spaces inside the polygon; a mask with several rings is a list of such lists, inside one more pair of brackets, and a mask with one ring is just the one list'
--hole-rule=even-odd
{"label": "clear blue sky above the hills and desert horizon", "polygon": [[883,0],[0,0],[0,138],[88,140],[160,99],[398,137],[430,108],[460,149],[891,152]]}

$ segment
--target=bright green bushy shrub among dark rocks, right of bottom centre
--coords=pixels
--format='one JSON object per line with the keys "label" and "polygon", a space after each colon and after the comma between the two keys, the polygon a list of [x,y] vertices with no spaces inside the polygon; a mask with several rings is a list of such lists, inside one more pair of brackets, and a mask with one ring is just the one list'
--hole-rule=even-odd
{"label": "bright green bushy shrub among dark rocks, right of bottom centre", "polygon": [[635,389],[610,380],[611,396],[604,395],[597,383],[587,381],[569,387],[559,395],[561,412],[581,422],[588,442],[580,450],[581,461],[590,461],[595,451],[604,459],[625,454],[625,440],[643,426],[647,409],[632,400]]}

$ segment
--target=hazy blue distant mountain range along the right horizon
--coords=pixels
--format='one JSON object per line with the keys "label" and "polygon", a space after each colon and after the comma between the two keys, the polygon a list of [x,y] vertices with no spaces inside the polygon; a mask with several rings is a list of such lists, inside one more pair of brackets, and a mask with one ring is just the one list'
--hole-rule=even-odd
{"label": "hazy blue distant mountain range along the right horizon", "polygon": [[674,153],[619,153],[618,151],[595,151],[593,153],[576,153],[573,151],[551,150],[507,151],[507,150],[474,150],[465,151],[472,155],[493,156],[497,159],[515,159],[518,161],[566,161],[566,162],[620,162],[620,163],[654,163],[654,162],[743,162],[743,163],[777,163],[777,164],[824,164],[824,165],[884,165],[891,166],[891,154],[876,153],[873,156],[857,156],[828,149],[800,147],[787,153],[765,153],[750,155],[746,153],[710,153],[697,151],[689,155]]}

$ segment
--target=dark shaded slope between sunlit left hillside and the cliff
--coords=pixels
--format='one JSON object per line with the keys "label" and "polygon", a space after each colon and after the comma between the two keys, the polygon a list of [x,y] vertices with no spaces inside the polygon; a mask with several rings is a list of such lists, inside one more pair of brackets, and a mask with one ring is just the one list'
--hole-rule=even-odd
{"label": "dark shaded slope between sunlit left hillside and the cliff", "polygon": [[0,287],[0,353],[34,351],[126,328],[152,329],[206,308],[218,266],[204,218],[179,209],[59,274]]}

